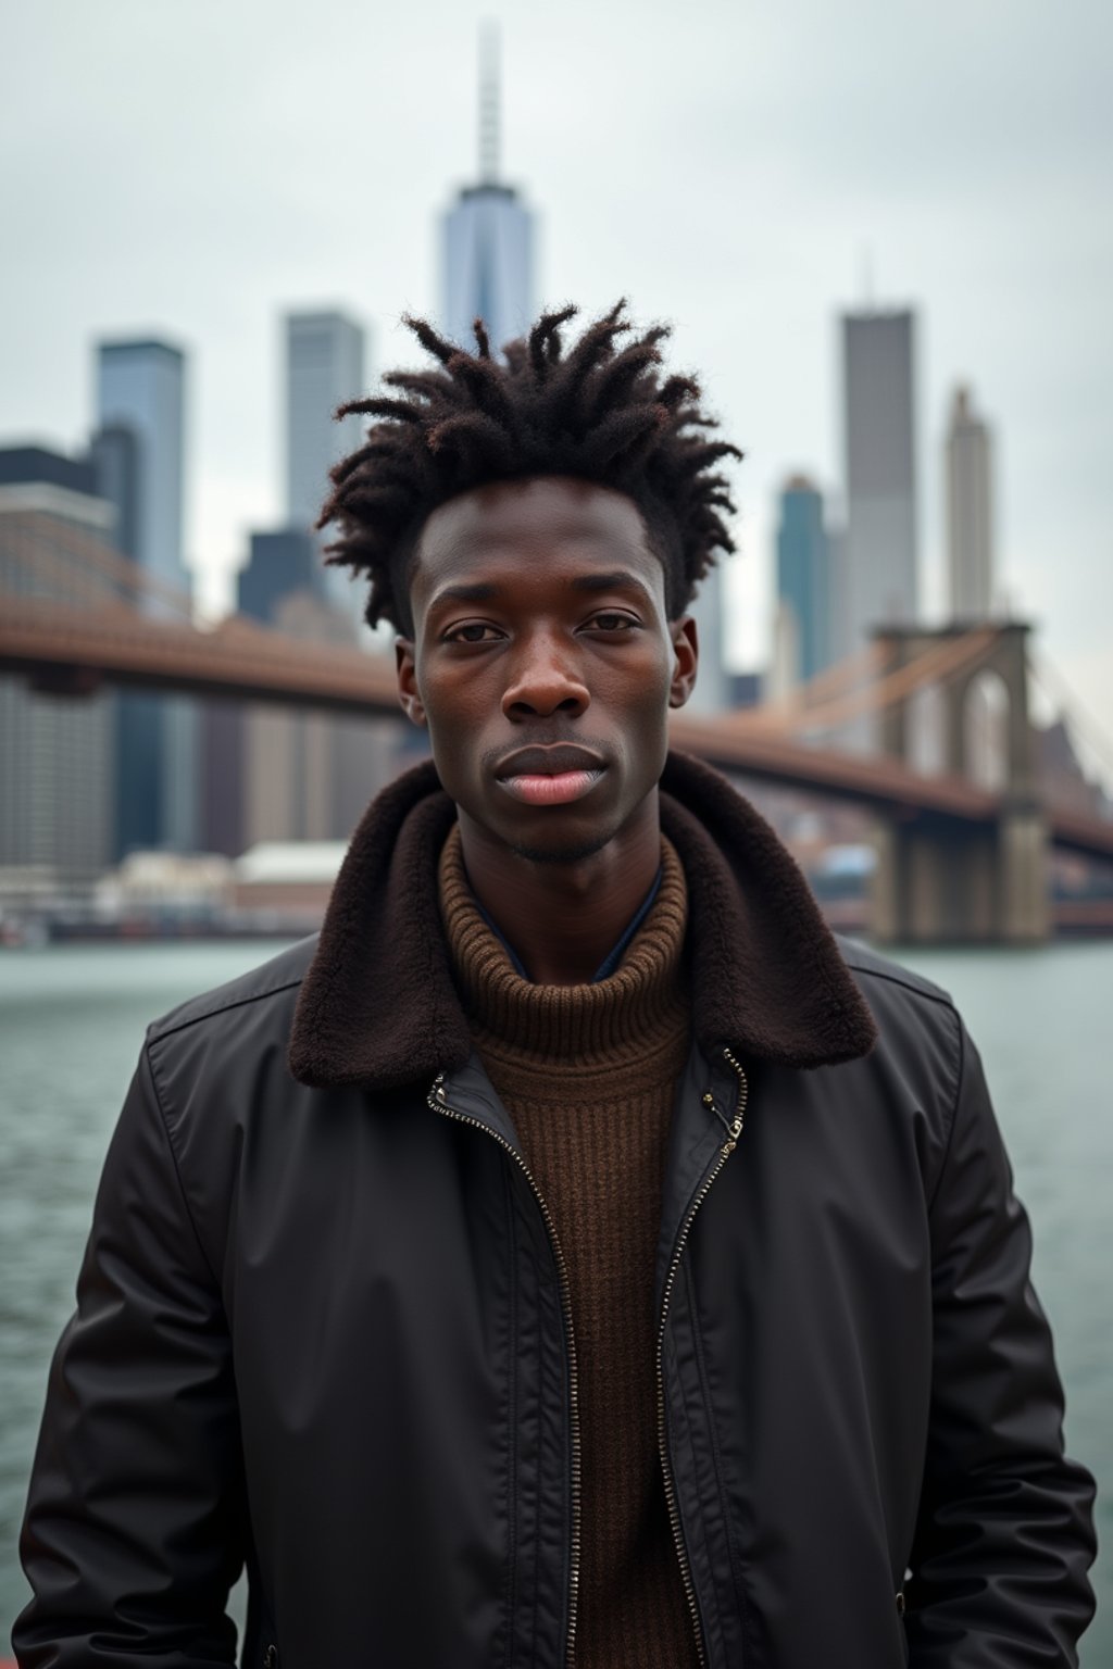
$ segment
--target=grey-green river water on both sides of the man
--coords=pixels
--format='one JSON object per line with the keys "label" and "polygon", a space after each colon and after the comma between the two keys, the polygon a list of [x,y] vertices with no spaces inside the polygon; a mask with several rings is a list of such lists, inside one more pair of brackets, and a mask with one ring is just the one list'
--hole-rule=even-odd
{"label": "grey-green river water on both sides of the man", "polygon": [[[27,1587],[15,1537],[55,1337],[145,1023],[269,955],[255,945],[0,951],[0,1656]],[[916,951],[986,1060],[1035,1278],[1068,1390],[1070,1450],[1098,1477],[1098,1619],[1086,1669],[1113,1664],[1113,945]]]}

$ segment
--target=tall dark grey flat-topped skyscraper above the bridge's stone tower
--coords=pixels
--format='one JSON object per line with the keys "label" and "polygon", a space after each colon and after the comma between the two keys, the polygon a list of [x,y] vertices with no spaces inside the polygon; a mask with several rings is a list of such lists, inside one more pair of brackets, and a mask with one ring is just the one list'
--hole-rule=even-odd
{"label": "tall dark grey flat-topped skyscraper above the bridge's stone tower", "polygon": [[843,319],[849,651],[918,613],[914,314]]}

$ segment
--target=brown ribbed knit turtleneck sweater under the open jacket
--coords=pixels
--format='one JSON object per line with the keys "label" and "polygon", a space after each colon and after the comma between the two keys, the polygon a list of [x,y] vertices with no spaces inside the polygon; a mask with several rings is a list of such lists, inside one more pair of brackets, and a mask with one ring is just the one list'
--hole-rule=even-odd
{"label": "brown ribbed knit turtleneck sweater under the open jacket", "polygon": [[696,1662],[657,1455],[654,1260],[676,1080],[687,890],[662,841],[657,896],[599,985],[522,980],[481,916],[459,826],[441,913],[472,1036],[567,1265],[581,1434],[579,1669]]}

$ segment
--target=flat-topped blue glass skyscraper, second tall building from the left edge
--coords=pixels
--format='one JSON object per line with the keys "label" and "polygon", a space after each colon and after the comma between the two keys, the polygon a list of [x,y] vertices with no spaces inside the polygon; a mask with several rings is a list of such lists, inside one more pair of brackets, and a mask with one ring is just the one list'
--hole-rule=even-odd
{"label": "flat-topped blue glass skyscraper, second tall building from the left edge", "polygon": [[[125,554],[154,581],[137,606],[174,614],[165,592],[189,599],[184,561],[185,355],[152,339],[97,349],[93,462],[117,507]],[[105,439],[105,432],[110,439]],[[130,444],[127,437],[130,436]],[[125,532],[123,532],[125,531]],[[187,696],[117,698],[117,855],[142,846],[197,846],[199,714]]]}

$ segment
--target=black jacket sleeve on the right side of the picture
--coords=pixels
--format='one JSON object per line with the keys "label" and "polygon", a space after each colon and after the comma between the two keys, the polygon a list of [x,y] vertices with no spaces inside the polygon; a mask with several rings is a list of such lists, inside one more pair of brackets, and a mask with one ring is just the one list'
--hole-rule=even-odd
{"label": "black jacket sleeve on the right side of the picture", "polygon": [[1031,1233],[961,1031],[931,1202],[931,1424],[909,1559],[916,1669],[1076,1664],[1093,1616],[1093,1479],[1063,1454],[1063,1392],[1028,1277]]}

